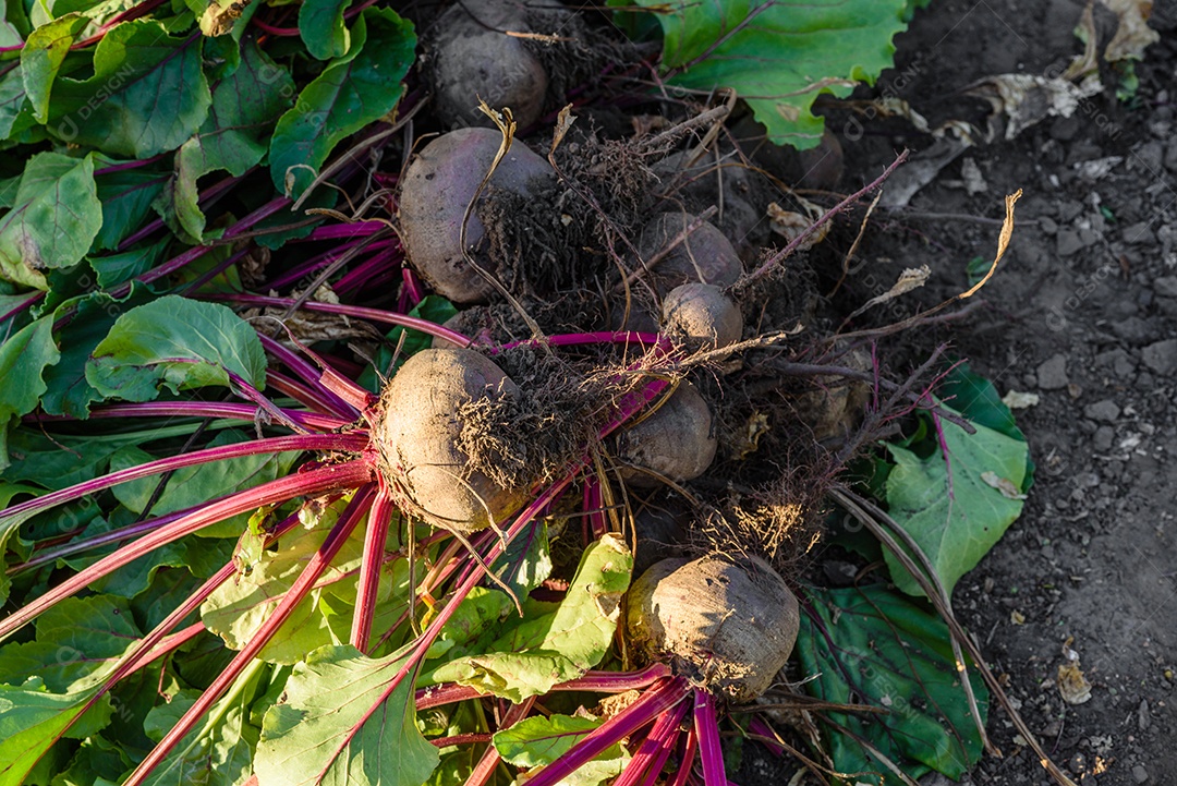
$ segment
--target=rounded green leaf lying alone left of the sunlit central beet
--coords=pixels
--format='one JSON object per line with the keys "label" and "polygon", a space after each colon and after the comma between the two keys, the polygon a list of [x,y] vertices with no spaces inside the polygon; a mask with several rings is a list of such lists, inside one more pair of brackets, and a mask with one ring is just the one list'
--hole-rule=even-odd
{"label": "rounded green leaf lying alone left of the sunlit central beet", "polygon": [[121,315],[94,348],[86,380],[105,397],[151,401],[173,392],[232,384],[261,389],[266,353],[252,327],[226,306],[167,295]]}

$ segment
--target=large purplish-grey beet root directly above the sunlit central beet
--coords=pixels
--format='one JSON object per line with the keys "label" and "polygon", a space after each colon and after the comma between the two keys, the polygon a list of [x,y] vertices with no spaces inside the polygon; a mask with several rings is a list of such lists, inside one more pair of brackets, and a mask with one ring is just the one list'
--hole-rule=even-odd
{"label": "large purplish-grey beet root directly above the sunlit central beet", "polygon": [[[438,292],[454,302],[485,300],[494,288],[473,269],[461,253],[461,218],[494,162],[498,131],[461,128],[426,145],[410,164],[400,187],[400,235],[408,261]],[[554,179],[552,167],[521,142],[511,146],[490,185],[527,195],[536,179]],[[486,199],[484,195],[481,199]],[[466,242],[480,266],[491,261],[479,255],[485,237],[473,212],[466,225]]]}

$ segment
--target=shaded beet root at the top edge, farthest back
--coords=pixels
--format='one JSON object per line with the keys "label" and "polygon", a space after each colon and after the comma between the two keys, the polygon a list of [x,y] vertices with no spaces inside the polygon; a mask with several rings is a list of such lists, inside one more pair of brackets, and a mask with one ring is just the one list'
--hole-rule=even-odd
{"label": "shaded beet root at the top edge, farthest back", "polygon": [[478,108],[510,107],[519,127],[539,120],[547,72],[521,39],[530,33],[521,7],[503,0],[465,0],[444,13],[431,48],[438,116],[451,128],[490,126]]}

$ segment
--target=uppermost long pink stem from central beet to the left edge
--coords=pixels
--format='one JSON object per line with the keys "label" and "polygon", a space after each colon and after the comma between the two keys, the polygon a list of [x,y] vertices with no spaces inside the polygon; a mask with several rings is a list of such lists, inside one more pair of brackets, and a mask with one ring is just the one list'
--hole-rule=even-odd
{"label": "uppermost long pink stem from central beet to the left edge", "polygon": [[192,451],[181,455],[173,455],[166,459],[158,459],[141,464],[138,467],[128,467],[119,472],[112,472],[101,478],[86,480],[80,484],[51,492],[44,497],[36,497],[20,505],[15,505],[7,511],[0,511],[0,522],[7,519],[27,519],[33,513],[45,511],[79,499],[87,494],[100,492],[119,484],[125,484],[140,478],[174,472],[184,467],[198,464],[210,464],[212,461],[224,461],[226,459],[238,459],[245,455],[258,455],[260,453],[284,453],[287,451],[341,451],[346,453],[359,453],[367,447],[367,438],[354,434],[299,434],[297,437],[271,437],[268,439],[255,439],[248,442],[235,445],[220,445],[207,447],[201,451]]}

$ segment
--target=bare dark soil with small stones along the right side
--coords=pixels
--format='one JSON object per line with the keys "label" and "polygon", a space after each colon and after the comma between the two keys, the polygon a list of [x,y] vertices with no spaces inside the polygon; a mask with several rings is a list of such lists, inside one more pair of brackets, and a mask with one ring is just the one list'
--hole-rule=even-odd
{"label": "bare dark soil with small stones along the right side", "polygon": [[[988,105],[960,88],[1057,73],[1082,51],[1072,31],[1083,7],[937,0],[897,40],[896,69],[860,96],[902,98],[933,127],[951,118],[984,127]],[[1096,9],[1105,35],[1110,20]],[[1017,413],[1038,465],[1025,512],[960,581],[955,606],[1046,751],[1088,786],[1177,784],[1177,8],[1157,4],[1151,26],[1162,40],[1137,64],[1135,98],[1096,95],[1071,118],[966,149],[906,209],[879,208],[858,253],[859,285],[873,273],[879,292],[904,268],[932,268],[895,321],[959,292],[965,264],[992,259],[1003,196],[1025,192],[985,305],[904,341],[925,351],[951,341],[1003,394],[1039,397]],[[843,192],[899,149],[933,144],[902,120],[827,116],[845,152]],[[985,188],[970,193],[973,165]],[[1080,705],[1056,685],[1068,641],[1093,686]],[[1051,782],[996,704],[990,733],[1004,758],[986,757],[962,782]],[[789,782],[793,765],[780,767],[752,755],[737,780]]]}

